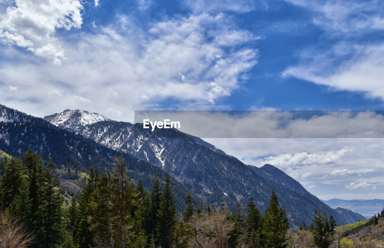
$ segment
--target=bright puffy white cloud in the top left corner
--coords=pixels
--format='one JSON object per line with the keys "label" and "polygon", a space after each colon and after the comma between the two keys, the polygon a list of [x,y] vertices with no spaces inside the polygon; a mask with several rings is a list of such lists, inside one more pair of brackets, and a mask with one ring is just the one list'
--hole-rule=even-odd
{"label": "bright puffy white cloud in the top left corner", "polygon": [[60,64],[64,57],[55,31],[80,28],[83,8],[78,0],[16,0],[0,16],[0,41],[27,48],[38,56]]}

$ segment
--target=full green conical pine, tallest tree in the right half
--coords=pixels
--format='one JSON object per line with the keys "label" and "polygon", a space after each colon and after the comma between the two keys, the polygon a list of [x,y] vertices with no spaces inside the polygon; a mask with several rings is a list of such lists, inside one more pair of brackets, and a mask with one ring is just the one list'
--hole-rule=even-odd
{"label": "full green conical pine, tallest tree in the right half", "polygon": [[262,235],[266,247],[288,247],[286,239],[289,228],[288,217],[285,210],[279,206],[277,195],[272,191],[269,207],[265,211],[262,223]]}

